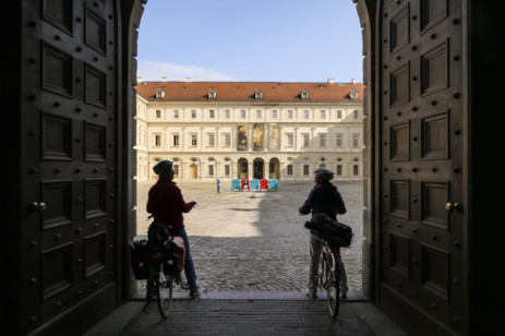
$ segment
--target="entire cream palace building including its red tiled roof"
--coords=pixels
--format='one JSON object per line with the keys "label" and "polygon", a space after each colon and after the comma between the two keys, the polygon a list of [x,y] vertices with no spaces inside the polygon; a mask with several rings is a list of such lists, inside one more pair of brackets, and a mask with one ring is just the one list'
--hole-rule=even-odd
{"label": "entire cream palace building including its red tiled roof", "polygon": [[139,181],[175,161],[176,180],[363,178],[363,84],[143,82],[136,88]]}

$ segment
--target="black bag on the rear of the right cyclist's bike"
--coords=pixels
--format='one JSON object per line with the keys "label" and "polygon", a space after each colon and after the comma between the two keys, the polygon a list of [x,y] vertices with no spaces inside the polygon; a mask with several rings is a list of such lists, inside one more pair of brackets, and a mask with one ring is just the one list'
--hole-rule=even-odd
{"label": "black bag on the rear of the right cyclist's bike", "polygon": [[317,237],[326,241],[330,248],[349,248],[351,244],[352,229],[326,214],[314,214],[310,221],[305,221],[305,228],[315,230]]}

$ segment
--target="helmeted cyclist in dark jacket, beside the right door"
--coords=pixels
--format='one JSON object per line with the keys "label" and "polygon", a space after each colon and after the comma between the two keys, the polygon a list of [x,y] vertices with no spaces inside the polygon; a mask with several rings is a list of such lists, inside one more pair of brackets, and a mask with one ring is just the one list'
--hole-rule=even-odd
{"label": "helmeted cyclist in dark jacket, beside the right door", "polygon": [[[346,213],[346,205],[340,195],[340,192],[329,181],[333,179],[334,172],[326,168],[317,168],[314,170],[314,182],[316,185],[311,190],[306,201],[298,209],[300,215],[308,215],[310,213],[317,214],[324,213],[333,219],[337,219],[337,214],[344,215]],[[311,230],[310,235],[310,275],[308,283],[306,295],[310,298],[317,298],[317,267],[321,256],[321,243],[315,236],[315,231]],[[337,262],[339,264],[340,276],[340,293],[341,298],[347,298],[347,275],[344,263],[341,262],[340,253],[337,254]]]}

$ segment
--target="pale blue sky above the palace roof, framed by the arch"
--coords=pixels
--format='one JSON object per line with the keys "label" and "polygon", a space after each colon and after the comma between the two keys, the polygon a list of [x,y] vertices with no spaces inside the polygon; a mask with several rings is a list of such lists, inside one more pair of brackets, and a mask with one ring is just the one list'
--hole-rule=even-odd
{"label": "pale blue sky above the palace roof, framed by the arch", "polygon": [[148,0],[137,76],[361,83],[361,52],[352,0]]}

